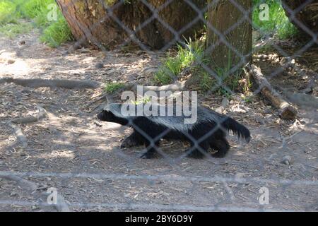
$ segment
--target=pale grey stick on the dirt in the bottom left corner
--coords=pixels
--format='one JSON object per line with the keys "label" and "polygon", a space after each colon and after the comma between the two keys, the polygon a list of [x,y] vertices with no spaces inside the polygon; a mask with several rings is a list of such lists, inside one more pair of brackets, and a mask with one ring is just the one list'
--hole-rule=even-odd
{"label": "pale grey stick on the dirt in the bottom left corner", "polygon": [[[35,191],[37,191],[37,188],[38,188],[37,184],[15,175],[5,175],[5,176],[0,175],[0,178],[16,182],[16,184],[20,186],[20,188],[25,189],[26,191],[30,192],[30,194],[33,194],[33,195],[35,194]],[[49,194],[42,193],[40,195],[47,197]],[[57,194],[57,204],[54,204],[54,205],[52,204],[52,206],[54,206],[54,208],[56,208],[56,210],[59,212],[71,212],[64,197],[61,196],[60,194]]]}

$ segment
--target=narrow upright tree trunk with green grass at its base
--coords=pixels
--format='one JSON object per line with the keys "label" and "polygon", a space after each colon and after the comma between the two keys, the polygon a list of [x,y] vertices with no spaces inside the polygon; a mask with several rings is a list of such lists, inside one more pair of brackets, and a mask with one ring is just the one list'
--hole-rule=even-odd
{"label": "narrow upright tree trunk with green grass at its base", "polygon": [[[236,0],[235,2],[247,12],[252,8],[251,0]],[[247,16],[252,20],[251,13]],[[237,66],[237,69],[240,69],[252,60],[252,25],[248,18],[244,19],[244,17],[245,14],[230,1],[208,1],[208,23],[210,25],[207,25],[206,48],[211,48],[211,52],[208,54],[211,56],[213,68],[229,70]],[[229,29],[232,30],[228,31]]]}

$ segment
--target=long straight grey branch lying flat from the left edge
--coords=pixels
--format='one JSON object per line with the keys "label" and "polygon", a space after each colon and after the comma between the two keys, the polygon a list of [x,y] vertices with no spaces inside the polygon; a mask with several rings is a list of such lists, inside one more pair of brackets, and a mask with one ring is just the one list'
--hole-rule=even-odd
{"label": "long straight grey branch lying flat from the left edge", "polygon": [[68,79],[42,79],[42,78],[0,78],[1,83],[15,83],[30,88],[66,88],[66,89],[81,89],[81,88],[98,88],[100,83],[90,80],[68,80]]}

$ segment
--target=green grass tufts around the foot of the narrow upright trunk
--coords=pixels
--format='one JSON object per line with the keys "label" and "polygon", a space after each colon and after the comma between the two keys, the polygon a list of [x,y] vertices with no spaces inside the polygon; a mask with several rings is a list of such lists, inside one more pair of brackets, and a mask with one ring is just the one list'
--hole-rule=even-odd
{"label": "green grass tufts around the foot of the narrow upright trunk", "polygon": [[177,47],[175,57],[168,56],[163,61],[163,65],[155,73],[153,80],[157,85],[170,84],[177,78],[182,69],[190,67],[190,72],[197,78],[198,90],[201,93],[206,93],[215,88],[215,93],[228,95],[228,91],[224,88],[225,85],[232,91],[247,93],[251,87],[249,78],[245,78],[245,73],[242,70],[229,75],[232,62],[230,62],[231,57],[228,57],[228,59],[229,62],[225,69],[213,68],[216,76],[223,81],[222,84],[218,85],[217,79],[211,76],[203,67],[192,66],[196,61],[203,62],[206,65],[211,65],[211,62],[204,56],[204,43],[190,40],[185,48]]}

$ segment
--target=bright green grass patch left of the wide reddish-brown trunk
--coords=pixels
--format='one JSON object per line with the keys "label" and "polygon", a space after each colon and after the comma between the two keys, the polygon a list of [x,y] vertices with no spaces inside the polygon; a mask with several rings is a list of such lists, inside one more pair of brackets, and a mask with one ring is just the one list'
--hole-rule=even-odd
{"label": "bright green grass patch left of the wide reddish-brown trunk", "polygon": [[35,27],[43,30],[40,40],[50,47],[57,47],[61,43],[72,40],[71,31],[64,16],[57,7],[57,20],[49,20],[52,11],[49,6],[57,6],[54,0],[0,0],[0,32],[7,37],[15,37],[21,33],[28,33]]}

